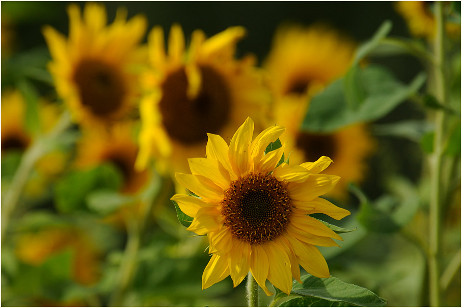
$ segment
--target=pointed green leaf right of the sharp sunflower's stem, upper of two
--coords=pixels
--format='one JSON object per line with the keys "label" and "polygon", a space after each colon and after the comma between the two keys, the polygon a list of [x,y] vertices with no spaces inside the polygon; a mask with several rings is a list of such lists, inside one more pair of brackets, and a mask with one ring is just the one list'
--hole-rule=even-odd
{"label": "pointed green leaf right of the sharp sunflower's stem, upper of two", "polygon": [[301,277],[303,284],[294,281],[291,295],[309,296],[331,302],[345,302],[355,306],[382,307],[387,301],[365,288],[347,284],[335,277]]}

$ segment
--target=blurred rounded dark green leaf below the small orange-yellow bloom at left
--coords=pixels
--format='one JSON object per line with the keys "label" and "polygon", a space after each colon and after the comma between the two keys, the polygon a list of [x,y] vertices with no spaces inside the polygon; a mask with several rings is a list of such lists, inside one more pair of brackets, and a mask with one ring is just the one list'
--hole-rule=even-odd
{"label": "blurred rounded dark green leaf below the small orange-yellow bloom at left", "polygon": [[117,190],[122,184],[121,172],[112,164],[74,171],[62,177],[55,186],[55,202],[62,213],[86,208],[86,199],[98,189]]}

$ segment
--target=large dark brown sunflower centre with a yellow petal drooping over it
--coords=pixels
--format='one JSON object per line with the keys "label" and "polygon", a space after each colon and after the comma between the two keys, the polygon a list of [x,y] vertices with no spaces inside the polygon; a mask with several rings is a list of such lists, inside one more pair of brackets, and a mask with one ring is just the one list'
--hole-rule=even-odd
{"label": "large dark brown sunflower centre with a yellow petal drooping over it", "polygon": [[208,66],[201,66],[200,71],[201,89],[194,99],[186,95],[184,68],[169,74],[161,85],[162,122],[170,137],[185,144],[206,141],[207,133],[219,133],[231,109],[231,96],[223,77]]}

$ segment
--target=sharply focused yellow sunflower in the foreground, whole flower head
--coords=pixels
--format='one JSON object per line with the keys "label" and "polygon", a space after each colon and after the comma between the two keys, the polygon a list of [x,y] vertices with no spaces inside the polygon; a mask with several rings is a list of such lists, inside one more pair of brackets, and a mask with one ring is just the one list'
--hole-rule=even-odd
{"label": "sharply focused yellow sunflower in the foreground, whole flower head", "polygon": [[198,197],[176,194],[172,200],[194,217],[187,229],[208,237],[212,256],[202,275],[203,289],[228,275],[236,287],[250,270],[267,295],[266,279],[289,294],[292,277],[301,282],[299,264],[316,277],[329,277],[315,245],[338,246],[333,239],[342,239],[308,214],[341,219],[350,212],[319,198],[339,181],[319,174],[331,159],[277,166],[284,146],[266,155],[265,148],[284,127],[269,127],[252,141],[253,131],[248,118],[229,146],[208,134],[207,158],[188,160],[192,174],[176,173],[177,181]]}

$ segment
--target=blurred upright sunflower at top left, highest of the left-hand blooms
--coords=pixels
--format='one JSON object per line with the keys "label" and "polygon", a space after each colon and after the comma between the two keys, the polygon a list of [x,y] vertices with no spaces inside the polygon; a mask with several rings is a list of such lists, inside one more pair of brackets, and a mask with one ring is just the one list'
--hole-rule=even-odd
{"label": "blurred upright sunflower at top left, highest of the left-hand blooms", "polygon": [[68,14],[68,39],[49,26],[43,29],[58,94],[82,124],[124,118],[139,96],[136,76],[137,66],[146,60],[146,50],[139,45],[146,19],[137,15],[126,21],[126,11],[119,9],[106,27],[104,7],[94,3],[86,4],[83,16],[71,4]]}

